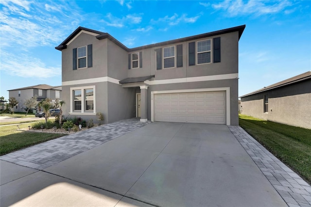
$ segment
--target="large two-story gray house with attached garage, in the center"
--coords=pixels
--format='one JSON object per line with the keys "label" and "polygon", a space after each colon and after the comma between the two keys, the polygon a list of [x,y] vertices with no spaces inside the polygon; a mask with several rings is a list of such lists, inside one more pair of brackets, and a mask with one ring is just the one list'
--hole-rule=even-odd
{"label": "large two-story gray house with attached garage, in the center", "polygon": [[238,125],[244,28],[129,49],[108,33],[78,27],[55,47],[62,52],[65,116]]}

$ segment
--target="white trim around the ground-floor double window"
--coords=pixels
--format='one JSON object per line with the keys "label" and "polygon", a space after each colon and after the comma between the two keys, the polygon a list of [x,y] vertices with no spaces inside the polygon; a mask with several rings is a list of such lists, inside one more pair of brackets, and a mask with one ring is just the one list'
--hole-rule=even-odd
{"label": "white trim around the ground-floor double window", "polygon": [[[93,112],[86,112],[85,111],[85,89],[93,89]],[[81,90],[81,111],[74,111],[73,110],[73,91],[74,90]],[[70,87],[70,115],[96,115],[96,92],[95,92],[95,86],[81,86],[81,87]]]}

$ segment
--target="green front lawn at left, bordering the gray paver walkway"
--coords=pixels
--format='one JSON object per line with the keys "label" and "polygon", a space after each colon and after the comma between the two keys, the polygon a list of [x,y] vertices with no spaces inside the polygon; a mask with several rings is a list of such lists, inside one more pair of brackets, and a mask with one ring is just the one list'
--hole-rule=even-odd
{"label": "green front lawn at left, bordering the gray paver walkway", "polygon": [[[19,128],[28,128],[30,123],[20,124]],[[38,133],[17,131],[17,126],[0,127],[0,155],[5,155],[22,148],[26,148],[54,138],[65,136],[64,134]]]}

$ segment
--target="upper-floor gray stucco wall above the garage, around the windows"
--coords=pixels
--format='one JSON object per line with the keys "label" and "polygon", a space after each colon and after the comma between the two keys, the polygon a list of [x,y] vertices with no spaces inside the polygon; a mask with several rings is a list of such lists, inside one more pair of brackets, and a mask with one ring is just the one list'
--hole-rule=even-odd
{"label": "upper-floor gray stucco wall above the garage, around the windows", "polygon": [[[238,73],[238,55],[239,55],[239,34],[238,32],[228,33],[224,35],[216,35],[203,39],[197,39],[197,41],[211,39],[215,37],[221,37],[221,62],[220,63],[209,63],[195,66],[189,66],[189,43],[193,41],[187,41],[172,45],[166,45],[163,47],[150,48],[140,50],[136,52],[142,52],[143,61],[142,68],[128,69],[128,77],[141,77],[148,75],[155,75],[155,80],[174,79],[174,78],[186,78],[196,76],[207,76],[207,75],[219,75],[227,73]],[[156,52],[155,49],[170,47],[176,45],[183,45],[183,67],[170,68],[156,70]],[[129,52],[129,54],[134,52]],[[163,55],[163,53],[162,53]],[[212,56],[211,56],[212,58]],[[175,58],[176,59],[176,58]],[[127,57],[126,57],[127,60]],[[212,60],[211,60],[212,62]],[[126,62],[127,67],[127,62]]]}

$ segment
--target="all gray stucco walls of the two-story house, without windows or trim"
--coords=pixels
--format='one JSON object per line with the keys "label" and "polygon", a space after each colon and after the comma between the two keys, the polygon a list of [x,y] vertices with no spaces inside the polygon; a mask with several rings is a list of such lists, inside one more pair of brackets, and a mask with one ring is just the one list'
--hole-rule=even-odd
{"label": "all gray stucco walls of the two-story house, without windows or trim", "polygon": [[[197,39],[196,41],[212,39],[219,35],[207,37],[204,39]],[[176,79],[196,76],[220,75],[227,73],[238,73],[238,32],[228,33],[221,36],[221,62],[201,64],[189,66],[189,42],[182,42],[173,44],[183,45],[183,67],[156,70],[156,48],[143,49],[137,52],[142,52],[142,68],[128,69],[128,54],[133,52],[126,52],[117,46],[109,39],[98,40],[94,35],[82,33],[75,37],[75,39],[68,45],[67,49],[62,50],[62,81],[80,81],[90,78],[99,78],[108,76],[117,80],[122,80],[127,77],[141,77],[148,75],[155,75],[152,80]],[[72,49],[79,48],[93,44],[93,67],[86,69],[72,69]],[[173,45],[166,45],[169,47]],[[163,48],[161,47],[161,48]],[[211,47],[212,51],[212,47]],[[213,53],[213,52],[211,52]],[[176,57],[175,57],[176,58]],[[211,55],[211,62],[213,62],[213,55]],[[163,66],[163,65],[162,65]],[[84,82],[83,82],[84,83]],[[104,83],[90,83],[65,86],[63,85],[62,97],[66,103],[70,103],[69,94],[70,87],[76,86],[96,86],[96,112],[104,113],[105,123],[127,119],[136,116],[136,97],[135,92],[137,88],[122,88],[121,85],[104,82]],[[230,104],[231,125],[238,125],[238,80],[217,80],[217,81],[200,81],[191,83],[178,84],[163,84],[152,85],[148,88],[147,93],[147,117],[151,119],[151,103],[150,93],[156,90],[177,90],[177,89],[194,89],[194,88],[215,88],[215,87],[230,87],[230,100],[226,100]],[[100,90],[99,90],[100,88]],[[101,92],[99,92],[101,91]],[[69,107],[66,106],[65,114],[69,115]],[[82,118],[97,120],[96,116],[90,115],[70,115],[80,116]]]}

